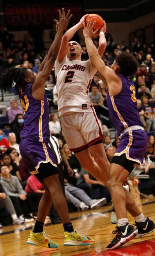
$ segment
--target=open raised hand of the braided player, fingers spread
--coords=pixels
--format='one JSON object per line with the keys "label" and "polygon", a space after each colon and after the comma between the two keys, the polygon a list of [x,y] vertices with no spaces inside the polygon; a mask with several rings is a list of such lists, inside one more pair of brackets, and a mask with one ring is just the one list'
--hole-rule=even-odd
{"label": "open raised hand of the braided player, fingers spread", "polygon": [[59,21],[58,20],[54,20],[54,22],[56,22],[56,31],[59,30],[65,30],[68,22],[70,20],[70,18],[72,18],[72,14],[69,16],[70,14],[70,10],[68,11],[67,15],[65,16],[65,10],[64,8],[62,8],[62,14],[61,11],[59,11]]}

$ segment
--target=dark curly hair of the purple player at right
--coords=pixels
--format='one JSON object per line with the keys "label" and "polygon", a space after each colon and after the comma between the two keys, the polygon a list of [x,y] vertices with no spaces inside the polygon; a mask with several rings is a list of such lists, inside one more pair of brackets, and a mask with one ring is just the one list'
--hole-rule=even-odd
{"label": "dark curly hair of the purple player at right", "polygon": [[123,74],[123,76],[131,76],[138,69],[138,62],[130,53],[118,54],[115,58],[115,62],[119,65],[119,73]]}

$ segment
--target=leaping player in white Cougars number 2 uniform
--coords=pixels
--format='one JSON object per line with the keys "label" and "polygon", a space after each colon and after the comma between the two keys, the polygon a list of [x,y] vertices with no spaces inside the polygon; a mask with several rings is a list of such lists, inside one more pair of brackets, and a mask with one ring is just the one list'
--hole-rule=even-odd
{"label": "leaping player in white Cougars number 2 uniform", "polygon": [[[90,82],[97,70],[90,60],[81,61],[83,53],[81,46],[75,41],[69,42],[72,36],[83,27],[86,16],[71,27],[63,35],[61,41],[55,64],[58,109],[68,147],[76,154],[83,169],[91,172],[98,180],[106,184],[110,163],[103,146],[101,125],[88,96]],[[105,31],[104,22],[99,32],[98,53],[100,56],[106,48]]]}

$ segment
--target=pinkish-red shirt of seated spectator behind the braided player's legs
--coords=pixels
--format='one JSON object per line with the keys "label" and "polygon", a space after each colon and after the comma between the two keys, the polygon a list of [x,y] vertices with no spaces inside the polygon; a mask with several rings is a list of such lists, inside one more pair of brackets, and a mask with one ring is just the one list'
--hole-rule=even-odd
{"label": "pinkish-red shirt of seated spectator behind the braided player's legs", "polygon": [[39,180],[36,178],[36,176],[32,174],[27,180],[27,185],[24,191],[26,193],[32,193],[32,192],[37,193],[38,189],[39,190],[43,189],[43,186],[41,185]]}

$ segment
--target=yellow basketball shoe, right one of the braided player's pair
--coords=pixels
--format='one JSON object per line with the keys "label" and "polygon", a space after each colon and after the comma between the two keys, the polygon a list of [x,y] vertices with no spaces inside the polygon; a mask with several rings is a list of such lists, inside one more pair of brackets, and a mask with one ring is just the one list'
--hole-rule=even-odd
{"label": "yellow basketball shoe, right one of the braided player's pair", "polygon": [[64,232],[65,241],[63,245],[66,246],[75,246],[75,245],[92,245],[95,243],[94,239],[89,238],[88,236],[82,236],[77,233],[76,229],[73,232]]}

